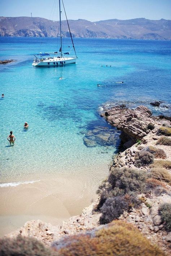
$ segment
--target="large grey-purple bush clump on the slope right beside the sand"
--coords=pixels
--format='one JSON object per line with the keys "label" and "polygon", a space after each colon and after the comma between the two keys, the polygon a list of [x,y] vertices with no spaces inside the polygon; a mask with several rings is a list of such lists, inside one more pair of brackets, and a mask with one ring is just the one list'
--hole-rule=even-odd
{"label": "large grey-purple bush clump on the slope right beside the sand", "polygon": [[124,210],[137,207],[136,193],[142,192],[147,178],[146,172],[132,168],[111,168],[106,185],[98,189],[100,202],[97,210],[102,212],[101,223],[118,218]]}

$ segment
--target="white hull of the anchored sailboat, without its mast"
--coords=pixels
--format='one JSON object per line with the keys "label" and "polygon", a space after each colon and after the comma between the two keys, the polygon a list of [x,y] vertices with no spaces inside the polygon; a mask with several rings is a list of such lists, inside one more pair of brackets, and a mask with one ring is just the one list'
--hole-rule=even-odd
{"label": "white hull of the anchored sailboat, without its mast", "polygon": [[32,66],[64,66],[66,64],[72,64],[76,62],[76,57],[55,57],[55,58],[44,58],[34,60]]}

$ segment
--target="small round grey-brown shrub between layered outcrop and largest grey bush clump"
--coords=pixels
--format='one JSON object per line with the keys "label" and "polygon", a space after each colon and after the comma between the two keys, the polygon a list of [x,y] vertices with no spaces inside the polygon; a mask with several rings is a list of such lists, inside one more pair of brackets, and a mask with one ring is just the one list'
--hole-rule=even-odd
{"label": "small round grey-brown shrub between layered outcrop and largest grey bush clump", "polygon": [[152,164],[154,161],[154,156],[152,153],[142,149],[135,153],[135,166],[141,167]]}

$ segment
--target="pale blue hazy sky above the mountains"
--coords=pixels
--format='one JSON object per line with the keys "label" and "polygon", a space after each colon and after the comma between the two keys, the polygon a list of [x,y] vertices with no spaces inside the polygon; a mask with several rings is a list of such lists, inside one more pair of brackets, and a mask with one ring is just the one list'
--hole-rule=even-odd
{"label": "pale blue hazy sky above the mountains", "polygon": [[[171,19],[171,0],[63,0],[63,3],[68,19]],[[0,0],[0,16],[31,16],[32,12],[32,17],[58,20],[55,5],[58,6],[58,0]]]}

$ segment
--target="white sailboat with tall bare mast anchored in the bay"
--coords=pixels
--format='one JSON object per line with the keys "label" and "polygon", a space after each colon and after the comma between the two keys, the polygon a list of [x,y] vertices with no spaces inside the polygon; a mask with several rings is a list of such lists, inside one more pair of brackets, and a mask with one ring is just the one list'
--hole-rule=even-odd
{"label": "white sailboat with tall bare mast anchored in the bay", "polygon": [[[63,0],[62,0],[63,3]],[[64,6],[63,6],[64,8]],[[65,11],[65,8],[64,8]],[[34,55],[36,58],[34,58],[34,61],[32,63],[32,66],[38,67],[38,66],[63,66],[66,64],[71,64],[71,63],[76,63],[76,52],[75,52],[75,47],[74,47],[74,42],[73,42],[73,38],[71,35],[71,31],[70,31],[70,27],[69,27],[69,23],[67,20],[67,25],[69,28],[69,32],[70,32],[70,36],[71,36],[71,41],[73,44],[73,49],[75,52],[75,56],[73,57],[66,57],[66,55],[69,55],[69,52],[65,52],[63,53],[63,47],[62,47],[62,24],[61,24],[61,0],[59,0],[59,13],[60,13],[60,50],[59,52],[45,52],[45,53],[39,53],[37,54],[40,55],[40,57]],[[65,16],[66,16],[66,12],[65,12]]]}

